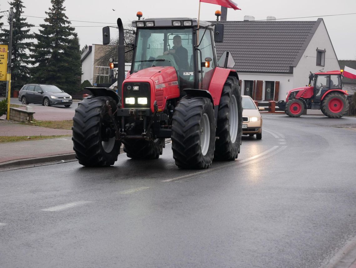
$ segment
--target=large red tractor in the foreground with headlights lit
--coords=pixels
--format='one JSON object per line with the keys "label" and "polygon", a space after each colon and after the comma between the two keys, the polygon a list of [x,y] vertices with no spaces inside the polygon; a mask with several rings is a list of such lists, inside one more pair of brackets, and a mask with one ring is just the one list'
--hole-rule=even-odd
{"label": "large red tractor in the foreground with headlights lit", "polygon": [[[208,168],[213,158],[240,152],[242,105],[239,77],[218,67],[215,42],[223,25],[189,18],[144,19],[138,12],[131,70],[124,78],[124,29],[119,27],[118,93],[90,87],[73,118],[73,144],[83,166],[114,165],[121,143],[127,157],[157,159],[171,138],[179,168]],[[108,27],[103,43],[109,44]],[[126,51],[127,52],[127,51]],[[120,86],[119,86],[120,85]]]}

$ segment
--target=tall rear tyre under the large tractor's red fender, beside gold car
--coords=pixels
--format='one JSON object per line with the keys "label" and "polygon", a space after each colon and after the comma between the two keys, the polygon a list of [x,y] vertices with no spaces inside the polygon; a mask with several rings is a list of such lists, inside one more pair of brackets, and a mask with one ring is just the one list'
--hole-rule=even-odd
{"label": "tall rear tyre under the large tractor's red fender, beside gold car", "polygon": [[242,135],[242,104],[236,77],[229,76],[223,87],[218,110],[214,159],[235,160]]}

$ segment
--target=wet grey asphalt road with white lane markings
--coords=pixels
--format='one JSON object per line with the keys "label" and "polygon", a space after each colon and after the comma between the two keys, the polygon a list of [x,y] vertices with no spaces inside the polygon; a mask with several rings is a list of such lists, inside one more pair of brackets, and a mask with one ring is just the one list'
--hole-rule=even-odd
{"label": "wet grey asphalt road with white lane markings", "polygon": [[356,118],[263,115],[239,158],[0,172],[0,267],[333,267],[356,239]]}

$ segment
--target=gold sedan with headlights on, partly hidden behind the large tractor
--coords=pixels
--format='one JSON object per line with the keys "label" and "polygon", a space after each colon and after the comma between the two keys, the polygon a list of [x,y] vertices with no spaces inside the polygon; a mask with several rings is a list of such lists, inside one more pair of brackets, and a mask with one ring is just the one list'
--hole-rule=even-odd
{"label": "gold sedan with headlights on, partly hidden behind the large tractor", "polygon": [[256,139],[262,139],[262,117],[255,102],[250,96],[242,96],[242,135],[253,136],[256,134]]}

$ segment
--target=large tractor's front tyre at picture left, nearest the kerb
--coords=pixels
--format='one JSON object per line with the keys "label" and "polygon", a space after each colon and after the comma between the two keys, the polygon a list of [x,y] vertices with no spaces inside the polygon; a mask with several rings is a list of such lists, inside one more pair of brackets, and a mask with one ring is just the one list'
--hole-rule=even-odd
{"label": "large tractor's front tyre at picture left, nearest the kerb", "polygon": [[114,165],[121,142],[116,140],[106,101],[111,97],[88,97],[78,103],[73,117],[73,149],[79,164],[87,167]]}

